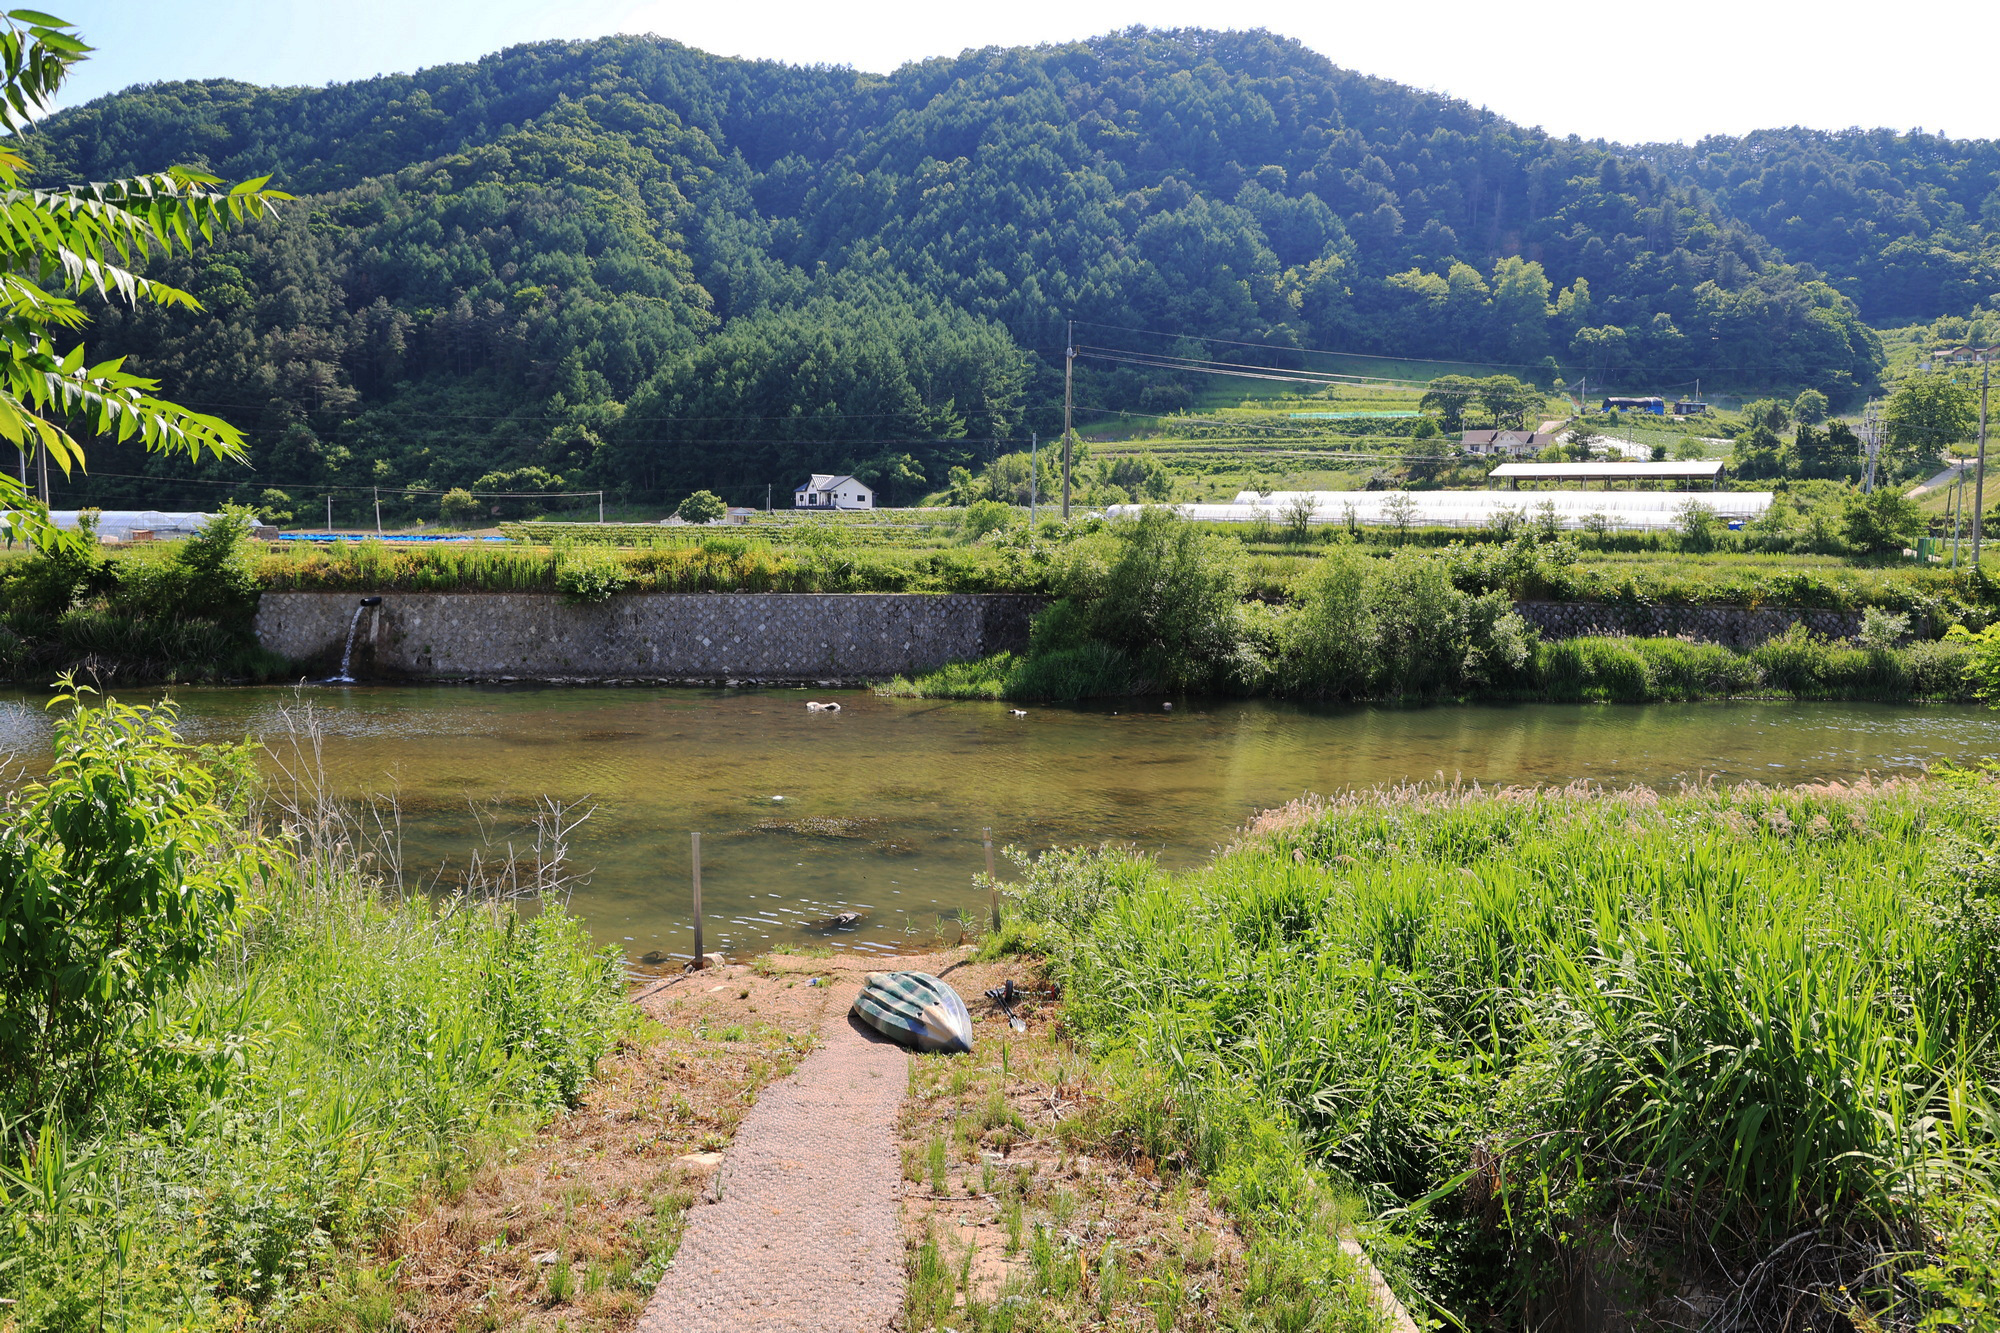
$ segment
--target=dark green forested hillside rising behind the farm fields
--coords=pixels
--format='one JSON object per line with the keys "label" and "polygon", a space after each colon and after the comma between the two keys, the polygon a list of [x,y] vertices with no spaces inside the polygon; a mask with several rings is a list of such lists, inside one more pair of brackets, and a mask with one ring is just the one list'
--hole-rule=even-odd
{"label": "dark green forested hillside rising behind the farm fields", "polygon": [[[52,118],[30,156],[50,182],[200,164],[300,196],[160,266],[202,314],[92,330],[244,424],[260,484],[296,494],[562,478],[760,502],[856,468],[908,500],[1058,424],[1070,316],[1148,350],[1840,402],[1880,368],[1864,320],[2000,290],[1996,144],[1562,140],[1262,32],[886,78],[546,42],[330,88],[144,86]],[[1128,368],[1080,398],[1188,390]],[[108,472],[166,466],[92,460],[104,500],[134,494]]]}

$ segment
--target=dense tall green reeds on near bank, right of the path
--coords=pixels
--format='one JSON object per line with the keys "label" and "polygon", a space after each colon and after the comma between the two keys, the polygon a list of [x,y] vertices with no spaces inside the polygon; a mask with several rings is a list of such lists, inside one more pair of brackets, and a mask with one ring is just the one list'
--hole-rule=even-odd
{"label": "dense tall green reeds on near bank, right of the path", "polygon": [[1402,789],[1184,875],[1022,861],[1000,945],[1158,1159],[1278,1219],[1364,1199],[1460,1327],[1984,1329],[1996,865],[1990,777]]}

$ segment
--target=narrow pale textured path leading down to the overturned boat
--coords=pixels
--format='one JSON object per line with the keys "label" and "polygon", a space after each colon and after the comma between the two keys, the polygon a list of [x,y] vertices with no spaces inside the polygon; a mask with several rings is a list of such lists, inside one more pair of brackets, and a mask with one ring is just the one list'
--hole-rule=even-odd
{"label": "narrow pale textured path leading down to the overturned boat", "polygon": [[902,1159],[896,1113],[908,1055],[830,997],[824,1045],[764,1089],[694,1209],[638,1333],[882,1333],[902,1311]]}

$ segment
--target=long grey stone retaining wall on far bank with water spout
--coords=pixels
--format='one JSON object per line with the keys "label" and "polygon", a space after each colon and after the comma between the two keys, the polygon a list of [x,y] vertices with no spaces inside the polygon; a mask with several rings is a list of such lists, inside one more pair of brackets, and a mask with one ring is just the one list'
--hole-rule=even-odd
{"label": "long grey stone retaining wall on far bank with water spout", "polygon": [[[266,592],[256,634],[330,675],[360,602]],[[644,592],[578,606],[548,592],[384,592],[354,675],[426,681],[858,683],[1028,644],[1042,598],[1014,594]]]}

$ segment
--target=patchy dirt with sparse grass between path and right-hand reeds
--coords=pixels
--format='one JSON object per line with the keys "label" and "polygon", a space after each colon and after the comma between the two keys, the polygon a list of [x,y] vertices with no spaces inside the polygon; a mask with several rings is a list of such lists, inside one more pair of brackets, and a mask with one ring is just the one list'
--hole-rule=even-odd
{"label": "patchy dirt with sparse grass between path and right-hand reeds", "polygon": [[[1022,963],[946,977],[970,1057],[920,1057],[902,1115],[902,1327],[1226,1327],[1244,1311],[1236,1227],[1190,1173],[1114,1131],[1060,1005]],[[1014,981],[1014,1033],[986,991]]]}

